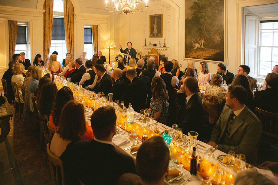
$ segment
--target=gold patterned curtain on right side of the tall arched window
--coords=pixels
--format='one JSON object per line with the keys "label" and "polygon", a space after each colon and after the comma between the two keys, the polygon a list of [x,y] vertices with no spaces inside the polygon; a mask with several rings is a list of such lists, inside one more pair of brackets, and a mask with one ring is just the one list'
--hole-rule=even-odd
{"label": "gold patterned curtain on right side of the tall arched window", "polygon": [[64,24],[67,52],[74,58],[74,7],[70,0],[64,0]]}

